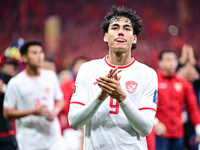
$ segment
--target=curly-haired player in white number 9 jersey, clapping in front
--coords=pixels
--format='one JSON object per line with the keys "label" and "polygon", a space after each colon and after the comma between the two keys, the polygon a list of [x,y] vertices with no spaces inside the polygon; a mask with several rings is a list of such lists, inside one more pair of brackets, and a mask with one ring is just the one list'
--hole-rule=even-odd
{"label": "curly-haired player in white number 9 jersey, clapping in front", "polygon": [[140,18],[112,7],[102,23],[108,55],[84,63],[70,103],[69,124],[85,125],[85,150],[147,150],[157,106],[157,75],[131,57]]}

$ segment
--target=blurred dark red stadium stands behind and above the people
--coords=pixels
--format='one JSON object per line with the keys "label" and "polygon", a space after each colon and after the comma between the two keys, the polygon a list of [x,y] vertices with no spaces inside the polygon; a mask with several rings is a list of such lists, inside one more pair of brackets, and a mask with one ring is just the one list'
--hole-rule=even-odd
{"label": "blurred dark red stadium stands behind and above the people", "polygon": [[186,43],[200,64],[199,0],[1,0],[0,52],[22,37],[41,40],[57,70],[78,56],[104,57],[108,49],[100,26],[113,4],[136,10],[143,21],[144,33],[132,52],[136,59],[156,69],[159,51],[180,55]]}

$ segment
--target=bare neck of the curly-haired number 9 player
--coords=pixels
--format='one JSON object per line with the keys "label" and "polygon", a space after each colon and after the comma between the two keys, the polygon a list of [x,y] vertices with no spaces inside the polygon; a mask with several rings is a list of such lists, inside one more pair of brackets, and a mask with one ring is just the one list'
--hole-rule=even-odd
{"label": "bare neck of the curly-haired number 9 player", "polygon": [[108,61],[109,63],[116,65],[116,66],[124,66],[131,62],[131,53],[115,53],[109,51],[108,54]]}

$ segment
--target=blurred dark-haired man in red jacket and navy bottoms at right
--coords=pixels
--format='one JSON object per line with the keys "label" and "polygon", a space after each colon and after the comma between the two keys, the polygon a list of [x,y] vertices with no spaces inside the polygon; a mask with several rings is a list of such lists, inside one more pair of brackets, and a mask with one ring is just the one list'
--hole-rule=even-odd
{"label": "blurred dark-haired man in red jacket and navy bottoms at right", "polygon": [[156,123],[156,150],[183,150],[184,128],[182,122],[183,105],[196,131],[196,142],[200,142],[200,116],[196,96],[191,84],[178,77],[177,56],[174,51],[160,53],[158,74],[158,105]]}

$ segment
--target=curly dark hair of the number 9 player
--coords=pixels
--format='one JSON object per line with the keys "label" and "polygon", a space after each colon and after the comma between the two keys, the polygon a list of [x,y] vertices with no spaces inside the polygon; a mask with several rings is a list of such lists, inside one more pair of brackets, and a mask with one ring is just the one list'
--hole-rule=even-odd
{"label": "curly dark hair of the number 9 player", "polygon": [[[110,23],[113,21],[113,19],[117,20],[118,17],[125,17],[131,21],[134,35],[139,36],[139,34],[142,33],[142,31],[143,31],[142,20],[140,19],[139,16],[136,15],[136,11],[127,9],[124,6],[121,6],[121,7],[113,6],[110,9],[110,13],[108,13],[104,17],[104,21],[101,24],[104,34],[108,33],[108,27],[109,27]],[[136,45],[133,44],[132,49],[135,49],[135,48],[136,48]]]}

